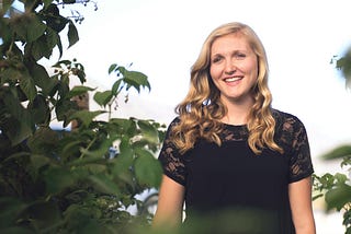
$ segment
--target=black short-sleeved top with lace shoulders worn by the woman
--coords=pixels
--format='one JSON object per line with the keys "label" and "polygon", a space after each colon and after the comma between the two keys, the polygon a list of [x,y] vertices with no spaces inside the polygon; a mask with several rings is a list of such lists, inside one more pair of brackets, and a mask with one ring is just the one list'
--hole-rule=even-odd
{"label": "black short-sleeved top with lace shoulders worn by the woman", "polygon": [[[184,230],[295,233],[287,187],[313,174],[309,144],[297,117],[275,109],[273,116],[274,140],[283,154],[264,149],[256,155],[248,145],[246,126],[225,125],[220,147],[200,139],[183,155],[167,134],[159,160],[165,175],[185,187]],[[178,121],[171,122],[168,132]]]}

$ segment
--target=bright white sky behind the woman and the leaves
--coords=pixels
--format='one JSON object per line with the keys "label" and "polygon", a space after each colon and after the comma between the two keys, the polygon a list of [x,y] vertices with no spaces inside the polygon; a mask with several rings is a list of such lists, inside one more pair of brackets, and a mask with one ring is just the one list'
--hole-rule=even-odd
{"label": "bright white sky behind the woman and the leaves", "polygon": [[[250,25],[265,46],[273,107],[305,124],[316,173],[339,169],[339,162],[325,163],[319,156],[351,143],[351,91],[330,63],[351,46],[351,1],[95,1],[98,11],[89,4],[79,8],[86,16],[77,25],[80,40],[64,58],[83,63],[87,85],[100,91],[116,80],[107,73],[112,63],[133,63],[129,69],[147,74],[151,85],[150,92],[132,92],[127,104],[121,97],[115,117],[168,125],[188,92],[190,69],[205,37],[220,24],[239,21]],[[342,233],[340,220],[318,219],[322,230],[318,233],[329,233],[328,229]]]}

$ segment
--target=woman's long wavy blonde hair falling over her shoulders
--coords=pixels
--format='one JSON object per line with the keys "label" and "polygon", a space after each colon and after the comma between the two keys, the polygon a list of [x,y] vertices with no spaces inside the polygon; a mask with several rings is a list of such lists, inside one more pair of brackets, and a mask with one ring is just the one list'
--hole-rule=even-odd
{"label": "woman's long wavy blonde hair falling over her shoulders", "polygon": [[250,149],[260,154],[268,147],[283,153],[274,142],[275,120],[272,116],[272,95],[268,87],[268,59],[264,47],[251,27],[234,22],[215,28],[206,38],[200,56],[191,69],[190,89],[185,98],[176,107],[180,121],[170,131],[170,139],[185,153],[194,147],[199,138],[220,145],[219,132],[223,130],[220,119],[227,114],[226,106],[220,102],[220,92],[210,75],[211,47],[218,37],[228,34],[240,34],[248,40],[257,55],[259,74],[252,87],[254,104],[248,116],[248,143]]}

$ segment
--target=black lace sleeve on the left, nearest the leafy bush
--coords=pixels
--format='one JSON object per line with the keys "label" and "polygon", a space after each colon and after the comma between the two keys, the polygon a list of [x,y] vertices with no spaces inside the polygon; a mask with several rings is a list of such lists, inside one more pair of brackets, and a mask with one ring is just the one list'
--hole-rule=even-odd
{"label": "black lace sleeve on the left, nearest the leafy bush", "polygon": [[158,160],[161,162],[163,167],[163,174],[184,186],[186,178],[185,164],[182,155],[180,155],[178,149],[169,139],[169,132],[178,121],[179,119],[176,118],[168,127]]}

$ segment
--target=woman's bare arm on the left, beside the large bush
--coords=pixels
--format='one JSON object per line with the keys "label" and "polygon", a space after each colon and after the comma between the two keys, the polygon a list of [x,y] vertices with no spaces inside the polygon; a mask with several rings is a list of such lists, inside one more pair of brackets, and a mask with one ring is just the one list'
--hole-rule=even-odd
{"label": "woman's bare arm on the left, beside the large bush", "polygon": [[184,191],[184,186],[163,175],[152,221],[154,227],[162,227],[162,225],[176,227],[182,222]]}

